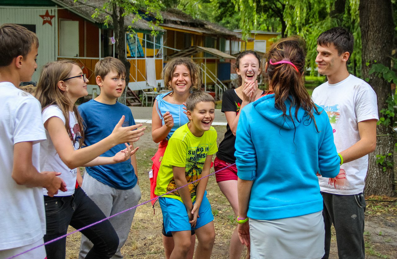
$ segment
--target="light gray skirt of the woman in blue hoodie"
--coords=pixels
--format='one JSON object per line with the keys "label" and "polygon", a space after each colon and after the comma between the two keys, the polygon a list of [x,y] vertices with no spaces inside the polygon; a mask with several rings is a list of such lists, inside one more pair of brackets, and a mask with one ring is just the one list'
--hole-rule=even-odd
{"label": "light gray skirt of the woman in blue hoodie", "polygon": [[318,259],[324,255],[322,211],[276,220],[249,219],[251,259]]}

